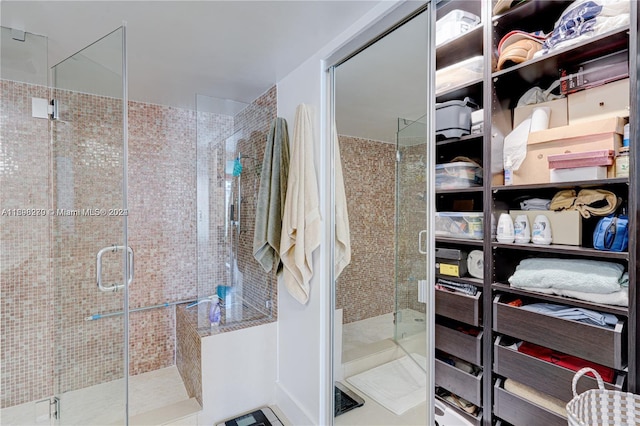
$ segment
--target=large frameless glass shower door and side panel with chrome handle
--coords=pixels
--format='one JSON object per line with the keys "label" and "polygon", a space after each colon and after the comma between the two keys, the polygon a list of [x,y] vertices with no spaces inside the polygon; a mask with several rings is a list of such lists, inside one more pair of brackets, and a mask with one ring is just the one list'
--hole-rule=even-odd
{"label": "large frameless glass shower door and side panel with chrome handle", "polygon": [[2,422],[126,424],[125,28],[38,81],[46,38],[2,31]]}

